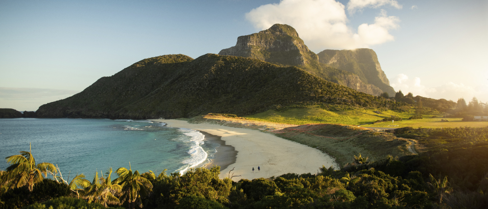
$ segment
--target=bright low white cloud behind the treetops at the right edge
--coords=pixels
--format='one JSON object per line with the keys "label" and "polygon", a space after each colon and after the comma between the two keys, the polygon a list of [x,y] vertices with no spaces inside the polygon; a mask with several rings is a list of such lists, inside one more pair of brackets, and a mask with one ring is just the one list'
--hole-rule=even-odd
{"label": "bright low white cloud behind the treetops at the right edge", "polygon": [[435,87],[426,87],[421,84],[421,79],[415,77],[414,79],[408,78],[405,74],[399,74],[390,79],[391,87],[395,91],[402,90],[403,94],[411,92],[413,95],[420,95],[424,97],[457,101],[458,98],[465,98],[471,100],[473,96],[476,96],[479,101],[488,101],[488,85],[480,86],[467,86],[463,83],[446,82],[443,85]]}

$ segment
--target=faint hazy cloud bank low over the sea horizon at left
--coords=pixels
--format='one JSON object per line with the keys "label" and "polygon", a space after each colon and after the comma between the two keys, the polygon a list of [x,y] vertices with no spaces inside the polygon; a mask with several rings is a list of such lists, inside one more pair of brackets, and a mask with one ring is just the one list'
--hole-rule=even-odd
{"label": "faint hazy cloud bank low over the sea horizon at left", "polygon": [[0,87],[0,108],[35,111],[41,105],[64,99],[80,91]]}

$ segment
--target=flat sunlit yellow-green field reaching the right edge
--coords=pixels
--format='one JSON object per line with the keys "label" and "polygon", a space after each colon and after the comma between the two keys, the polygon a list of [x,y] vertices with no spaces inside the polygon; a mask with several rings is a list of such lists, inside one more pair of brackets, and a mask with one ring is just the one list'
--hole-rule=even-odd
{"label": "flat sunlit yellow-green field reaching the right edge", "polygon": [[392,123],[383,122],[377,124],[367,124],[364,125],[365,127],[391,127],[391,125],[398,125],[395,128],[402,128],[402,127],[424,127],[424,128],[453,128],[453,127],[486,127],[488,126],[488,121],[472,121],[472,122],[463,122],[461,121],[463,118],[447,118],[449,122],[441,121],[442,118],[428,118],[428,119],[416,119],[416,120],[402,120],[402,121],[395,121]]}

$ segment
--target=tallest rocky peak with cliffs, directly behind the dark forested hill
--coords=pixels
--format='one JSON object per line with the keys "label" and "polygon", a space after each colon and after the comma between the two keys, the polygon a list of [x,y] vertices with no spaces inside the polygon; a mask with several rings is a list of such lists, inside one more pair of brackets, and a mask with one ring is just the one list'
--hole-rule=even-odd
{"label": "tallest rocky peak with cliffs, directly behind the dark forested hill", "polygon": [[318,55],[308,49],[296,30],[285,24],[274,24],[259,33],[240,36],[235,46],[221,50],[219,55],[250,57],[277,65],[297,66],[315,76],[366,94],[383,93],[380,88],[363,81],[354,72],[319,62]]}

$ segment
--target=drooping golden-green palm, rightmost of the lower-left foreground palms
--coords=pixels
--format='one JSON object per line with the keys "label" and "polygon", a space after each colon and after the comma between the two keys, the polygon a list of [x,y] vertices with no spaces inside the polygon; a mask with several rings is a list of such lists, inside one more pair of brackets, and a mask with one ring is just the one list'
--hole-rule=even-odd
{"label": "drooping golden-green palm, rightmost of the lower-left foreground palms", "polygon": [[122,186],[121,200],[123,202],[126,201],[131,209],[135,208],[136,202],[142,208],[142,197],[148,196],[152,190],[151,181],[139,174],[139,171],[132,173],[130,162],[129,170],[119,168],[115,172],[119,175],[119,178],[113,180],[112,184],[120,184]]}

